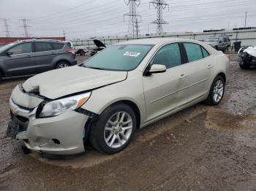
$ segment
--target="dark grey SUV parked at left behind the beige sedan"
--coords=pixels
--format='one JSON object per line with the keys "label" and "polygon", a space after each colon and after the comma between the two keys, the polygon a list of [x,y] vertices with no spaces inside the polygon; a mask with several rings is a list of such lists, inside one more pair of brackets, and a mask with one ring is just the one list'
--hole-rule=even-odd
{"label": "dark grey SUV parked at left behind the beige sedan", "polygon": [[69,42],[32,39],[0,47],[0,81],[75,64],[75,50]]}

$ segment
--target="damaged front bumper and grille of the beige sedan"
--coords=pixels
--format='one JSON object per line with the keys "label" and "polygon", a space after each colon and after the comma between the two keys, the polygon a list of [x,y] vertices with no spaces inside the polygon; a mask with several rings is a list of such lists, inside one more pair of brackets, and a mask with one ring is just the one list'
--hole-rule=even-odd
{"label": "damaged front bumper and grille of the beige sedan", "polygon": [[56,155],[84,152],[89,122],[96,114],[79,109],[55,117],[37,117],[44,102],[44,98],[26,93],[20,85],[15,87],[10,98],[7,136],[23,140],[28,149],[37,152]]}

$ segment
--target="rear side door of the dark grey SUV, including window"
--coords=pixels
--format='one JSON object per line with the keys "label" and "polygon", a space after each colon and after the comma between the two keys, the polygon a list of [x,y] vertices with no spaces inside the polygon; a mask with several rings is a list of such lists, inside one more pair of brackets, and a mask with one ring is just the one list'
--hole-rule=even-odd
{"label": "rear side door of the dark grey SUV, including window", "polygon": [[54,69],[55,65],[53,59],[56,56],[56,50],[52,47],[50,42],[33,42],[34,44],[34,58],[36,61],[35,68],[37,73]]}

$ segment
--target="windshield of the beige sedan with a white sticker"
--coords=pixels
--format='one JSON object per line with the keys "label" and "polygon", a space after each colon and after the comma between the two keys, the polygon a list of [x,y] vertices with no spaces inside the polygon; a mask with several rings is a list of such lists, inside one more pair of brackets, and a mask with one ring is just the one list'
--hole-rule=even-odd
{"label": "windshield of the beige sedan with a white sticker", "polygon": [[137,68],[151,47],[151,44],[113,45],[85,61],[82,66],[91,69],[130,71]]}

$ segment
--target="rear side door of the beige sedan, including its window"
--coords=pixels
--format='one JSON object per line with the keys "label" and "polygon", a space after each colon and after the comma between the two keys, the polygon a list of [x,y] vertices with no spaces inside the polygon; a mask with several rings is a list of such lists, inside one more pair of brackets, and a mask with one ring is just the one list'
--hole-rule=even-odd
{"label": "rear side door of the beige sedan, including its window", "polygon": [[184,42],[187,53],[186,71],[188,75],[188,102],[203,98],[211,84],[211,70],[214,59],[200,44]]}

